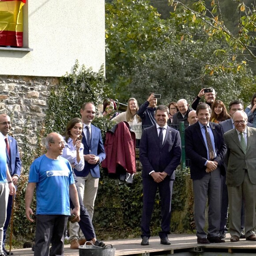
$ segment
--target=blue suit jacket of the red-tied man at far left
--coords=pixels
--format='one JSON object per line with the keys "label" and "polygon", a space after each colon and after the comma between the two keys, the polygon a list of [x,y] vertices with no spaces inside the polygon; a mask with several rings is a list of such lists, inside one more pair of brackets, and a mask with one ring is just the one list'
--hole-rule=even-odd
{"label": "blue suit jacket of the red-tied man at far left", "polygon": [[9,172],[11,173],[11,176],[13,176],[14,174],[20,176],[21,161],[19,158],[19,149],[18,149],[17,141],[9,135],[8,135],[8,141],[9,141],[10,151],[11,151],[11,159],[10,159],[9,154],[6,150],[7,165],[9,168]]}

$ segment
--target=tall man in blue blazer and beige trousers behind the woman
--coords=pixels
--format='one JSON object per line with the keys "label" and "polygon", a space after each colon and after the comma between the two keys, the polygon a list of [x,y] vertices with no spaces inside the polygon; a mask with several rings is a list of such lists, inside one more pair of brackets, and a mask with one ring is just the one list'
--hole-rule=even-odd
{"label": "tall man in blue blazer and beige trousers behind the woman", "polygon": [[[84,169],[80,172],[75,170],[77,177],[77,192],[82,196],[84,206],[87,208],[90,218],[93,218],[94,201],[96,199],[98,182],[100,177],[99,164],[105,159],[105,150],[102,142],[101,130],[91,122],[95,117],[95,106],[92,102],[84,103],[81,107],[81,119],[83,121],[83,157]],[[75,224],[75,225],[74,225]],[[78,248],[79,245],[85,243],[83,233],[80,232],[80,240],[78,238],[78,224],[74,223],[70,228],[71,248]]]}

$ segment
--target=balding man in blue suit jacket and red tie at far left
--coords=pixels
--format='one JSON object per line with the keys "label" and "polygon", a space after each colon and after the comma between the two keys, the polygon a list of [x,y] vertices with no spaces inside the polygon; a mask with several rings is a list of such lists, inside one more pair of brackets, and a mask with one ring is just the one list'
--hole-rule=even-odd
{"label": "balding man in blue suit jacket and red tie at far left", "polygon": [[[10,117],[6,114],[1,114],[0,115],[0,132],[5,137],[8,169],[11,174],[11,179],[13,184],[17,186],[19,176],[21,173],[21,161],[19,158],[19,149],[18,149],[17,141],[13,137],[8,135],[10,131],[11,131]],[[12,196],[9,196],[7,212],[6,212],[6,220],[4,223],[4,235],[3,235],[3,251],[7,255],[9,255],[9,252],[5,250],[4,241],[6,237],[6,230],[8,228],[10,218],[11,218],[11,206],[12,206]],[[13,255],[12,252],[11,252],[11,255]]]}

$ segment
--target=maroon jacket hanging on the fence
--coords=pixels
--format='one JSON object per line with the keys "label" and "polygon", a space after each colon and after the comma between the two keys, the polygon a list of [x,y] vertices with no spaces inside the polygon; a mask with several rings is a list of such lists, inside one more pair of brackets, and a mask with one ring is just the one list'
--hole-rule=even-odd
{"label": "maroon jacket hanging on the fence", "polygon": [[127,122],[122,121],[106,132],[104,147],[106,158],[102,168],[107,168],[108,173],[116,173],[117,165],[128,173],[136,173],[135,132]]}

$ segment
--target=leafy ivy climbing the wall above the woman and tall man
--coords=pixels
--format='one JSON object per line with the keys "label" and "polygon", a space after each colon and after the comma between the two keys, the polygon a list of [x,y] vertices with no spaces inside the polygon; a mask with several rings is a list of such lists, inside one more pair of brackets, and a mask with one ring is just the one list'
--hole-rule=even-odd
{"label": "leafy ivy climbing the wall above the woman and tall man", "polygon": [[60,78],[58,88],[53,88],[49,97],[49,108],[45,117],[45,134],[64,132],[66,124],[74,117],[80,117],[80,109],[85,102],[95,106],[109,98],[112,91],[105,85],[104,67],[99,72],[79,69],[76,61],[71,74]]}

